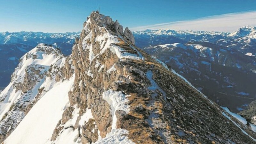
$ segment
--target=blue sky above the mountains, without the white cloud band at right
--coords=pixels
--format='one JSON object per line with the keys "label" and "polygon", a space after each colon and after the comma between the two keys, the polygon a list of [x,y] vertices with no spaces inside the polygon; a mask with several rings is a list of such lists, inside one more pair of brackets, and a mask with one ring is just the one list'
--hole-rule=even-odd
{"label": "blue sky above the mountains, without the white cloud band at right", "polygon": [[[239,23],[226,31],[235,30],[236,27],[247,23],[256,26],[253,13],[256,12],[255,0],[1,0],[0,4],[0,32],[81,31],[86,17],[93,10],[97,10],[99,5],[100,13],[110,16],[113,20],[118,19],[121,25],[133,30],[145,29],[148,28],[147,26],[157,29],[159,27],[152,27],[152,25],[163,23],[169,25],[160,28],[189,29],[188,24],[177,27],[177,21],[180,25],[180,21],[190,22],[205,17],[209,19],[209,16],[223,17],[223,14],[230,13],[232,13],[232,17],[236,18],[247,17],[248,13],[244,13],[244,11],[252,12],[250,13],[251,17],[246,18],[247,21],[243,24]],[[241,12],[244,15],[236,15]],[[176,23],[176,27],[170,25],[173,22]],[[222,24],[222,29],[225,25],[228,27],[229,23]],[[196,25],[191,29],[200,30],[202,26]],[[212,30],[213,28],[201,29]],[[216,28],[217,30],[219,29]]]}

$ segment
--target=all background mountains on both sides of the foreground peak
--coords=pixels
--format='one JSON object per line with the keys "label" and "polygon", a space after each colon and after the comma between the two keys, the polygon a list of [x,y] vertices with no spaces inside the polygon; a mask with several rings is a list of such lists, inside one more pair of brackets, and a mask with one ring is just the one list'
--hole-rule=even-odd
{"label": "all background mountains on both sides of the foreground peak", "polygon": [[[145,30],[133,35],[136,46],[178,71],[220,105],[238,112],[255,100],[255,27],[244,26],[232,33]],[[80,32],[0,33],[0,87],[10,82],[20,57],[38,43],[69,55],[79,36]]]}

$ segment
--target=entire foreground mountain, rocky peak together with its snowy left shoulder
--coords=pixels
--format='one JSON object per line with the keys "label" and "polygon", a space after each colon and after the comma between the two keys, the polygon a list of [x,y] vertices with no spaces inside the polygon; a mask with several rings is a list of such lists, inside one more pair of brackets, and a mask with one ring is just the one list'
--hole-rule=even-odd
{"label": "entire foreground mountain, rocky peak together with its snowy left shoulder", "polygon": [[0,140],[28,143],[256,143],[250,125],[92,12],[72,54],[39,44],[1,92]]}

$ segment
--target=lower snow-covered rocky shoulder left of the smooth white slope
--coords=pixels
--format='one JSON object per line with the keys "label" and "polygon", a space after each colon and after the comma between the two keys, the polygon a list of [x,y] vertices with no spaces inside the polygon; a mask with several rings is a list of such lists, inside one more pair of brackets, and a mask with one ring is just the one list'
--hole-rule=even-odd
{"label": "lower snow-covered rocky shoulder left of the smooth white slope", "polygon": [[20,59],[11,83],[0,94],[0,135],[10,135],[28,113],[28,106],[41,97],[42,90],[51,89],[54,80],[46,78],[47,72],[62,57],[58,49],[39,44]]}

